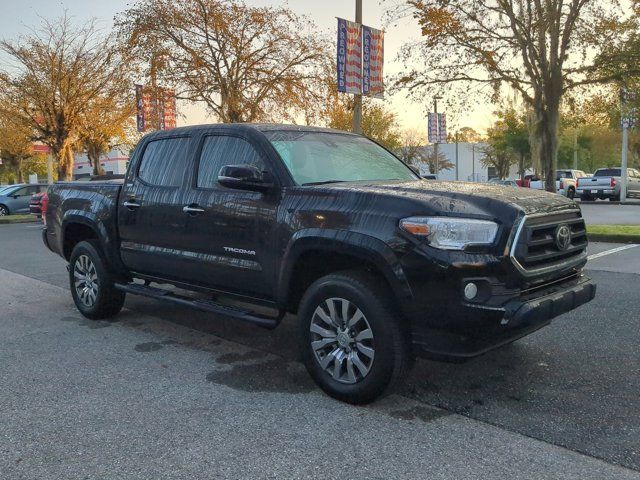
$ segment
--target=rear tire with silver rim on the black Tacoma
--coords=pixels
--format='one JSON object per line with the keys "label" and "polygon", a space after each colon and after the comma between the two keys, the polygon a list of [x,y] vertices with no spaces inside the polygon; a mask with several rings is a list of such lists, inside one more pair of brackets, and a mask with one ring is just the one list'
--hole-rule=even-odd
{"label": "rear tire with silver rim on the black Tacoma", "polygon": [[[89,264],[92,268],[87,266]],[[86,275],[84,272],[87,272]],[[92,281],[88,276],[95,280]],[[79,285],[76,285],[76,280],[79,280]],[[98,242],[79,242],[69,258],[69,286],[78,311],[91,320],[117,315],[124,305],[125,293],[116,290],[113,285],[114,276],[102,256]]]}

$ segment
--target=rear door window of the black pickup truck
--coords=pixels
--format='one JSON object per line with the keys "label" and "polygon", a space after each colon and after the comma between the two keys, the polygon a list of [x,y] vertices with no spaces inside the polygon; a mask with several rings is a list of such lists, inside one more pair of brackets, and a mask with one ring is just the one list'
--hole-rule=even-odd
{"label": "rear door window of the black pickup truck", "polygon": [[149,185],[179,187],[188,170],[188,137],[163,138],[147,144],[138,177]]}

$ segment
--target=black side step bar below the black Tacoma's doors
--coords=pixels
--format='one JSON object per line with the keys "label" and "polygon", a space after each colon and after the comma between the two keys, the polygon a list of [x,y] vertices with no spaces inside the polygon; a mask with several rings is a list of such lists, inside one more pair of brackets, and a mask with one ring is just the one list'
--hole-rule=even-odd
{"label": "black side step bar below the black Tacoma's doors", "polygon": [[184,305],[186,307],[196,308],[205,312],[225,315],[236,320],[253,323],[255,325],[259,325],[268,329],[276,328],[285,315],[285,311],[280,310],[276,316],[272,317],[260,313],[251,312],[249,310],[244,310],[242,308],[234,307],[231,305],[222,305],[221,303],[215,302],[213,300],[193,299],[181,295],[176,295],[175,293],[164,290],[162,288],[150,287],[148,285],[141,285],[139,283],[116,283],[114,287],[118,290],[126,293],[131,293],[133,295],[141,295],[143,297],[154,298],[156,300],[164,300],[165,302],[171,302],[178,305]]}

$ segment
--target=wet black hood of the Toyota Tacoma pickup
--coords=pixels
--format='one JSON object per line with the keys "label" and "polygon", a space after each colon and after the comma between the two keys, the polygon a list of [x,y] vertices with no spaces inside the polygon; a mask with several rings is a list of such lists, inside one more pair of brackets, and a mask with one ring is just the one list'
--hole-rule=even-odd
{"label": "wet black hood of the Toyota Tacoma pickup", "polygon": [[419,201],[429,210],[442,213],[495,215],[508,207],[508,210],[531,215],[578,209],[573,200],[562,195],[487,183],[433,180],[345,182],[331,184],[330,188]]}

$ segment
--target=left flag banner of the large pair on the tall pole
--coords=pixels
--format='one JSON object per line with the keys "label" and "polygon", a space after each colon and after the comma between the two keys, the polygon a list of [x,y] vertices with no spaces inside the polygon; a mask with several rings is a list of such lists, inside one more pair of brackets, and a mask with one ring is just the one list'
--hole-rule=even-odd
{"label": "left flag banner of the large pair on the tall pole", "polygon": [[362,28],[338,18],[338,91],[362,93]]}

